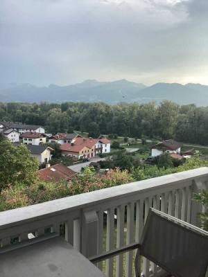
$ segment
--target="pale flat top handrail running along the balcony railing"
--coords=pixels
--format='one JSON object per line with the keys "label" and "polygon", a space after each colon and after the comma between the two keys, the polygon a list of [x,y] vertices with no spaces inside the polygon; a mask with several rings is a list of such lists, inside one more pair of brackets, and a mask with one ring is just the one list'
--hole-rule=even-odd
{"label": "pale flat top handrail running along the balcony railing", "polygon": [[[104,188],[81,195],[73,195],[61,199],[55,199],[41,204],[16,208],[0,213],[0,230],[8,229],[10,226],[19,226],[24,223],[40,220],[45,217],[53,217],[63,213],[69,213],[78,209],[94,206],[98,203],[131,197],[135,194],[155,191],[160,188],[168,188],[174,184],[190,182],[191,180],[202,180],[208,177],[208,168],[196,168],[185,172],[178,172],[171,175],[136,181],[130,184]],[[174,187],[173,187],[174,189]]]}

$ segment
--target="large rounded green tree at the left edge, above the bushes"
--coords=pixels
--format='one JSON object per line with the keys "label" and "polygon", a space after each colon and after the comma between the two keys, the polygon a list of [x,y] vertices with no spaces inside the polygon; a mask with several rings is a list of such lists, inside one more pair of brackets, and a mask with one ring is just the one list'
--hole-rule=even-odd
{"label": "large rounded green tree at the left edge, above the bushes", "polygon": [[15,147],[10,141],[0,142],[0,190],[17,184],[31,185],[37,180],[38,161],[25,145]]}

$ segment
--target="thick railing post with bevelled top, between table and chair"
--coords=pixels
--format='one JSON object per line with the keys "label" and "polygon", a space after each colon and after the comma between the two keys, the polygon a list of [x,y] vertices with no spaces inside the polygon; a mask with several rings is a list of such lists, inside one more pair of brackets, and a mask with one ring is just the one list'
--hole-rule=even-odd
{"label": "thick railing post with bevelled top, between table and chair", "polygon": [[96,211],[83,211],[81,251],[87,258],[98,253],[98,216]]}

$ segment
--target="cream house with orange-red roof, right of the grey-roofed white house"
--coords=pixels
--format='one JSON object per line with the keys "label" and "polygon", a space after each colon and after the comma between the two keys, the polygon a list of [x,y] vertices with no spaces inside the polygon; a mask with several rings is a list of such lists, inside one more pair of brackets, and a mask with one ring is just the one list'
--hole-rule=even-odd
{"label": "cream house with orange-red roof, right of the grey-roofed white house", "polygon": [[60,145],[61,154],[63,157],[71,157],[75,159],[89,158],[93,148],[89,149],[85,145],[75,145],[74,143],[63,143]]}

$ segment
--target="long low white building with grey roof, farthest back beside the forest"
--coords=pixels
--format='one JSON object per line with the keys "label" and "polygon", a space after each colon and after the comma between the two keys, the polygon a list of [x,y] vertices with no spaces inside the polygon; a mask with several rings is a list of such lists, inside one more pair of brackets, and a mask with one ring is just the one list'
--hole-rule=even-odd
{"label": "long low white building with grey roof, farthest back beside the forest", "polygon": [[10,123],[2,121],[0,122],[1,129],[13,129],[19,134],[23,134],[25,132],[37,132],[37,133],[44,133],[45,128],[40,125],[26,125],[26,124],[17,124],[17,123]]}

